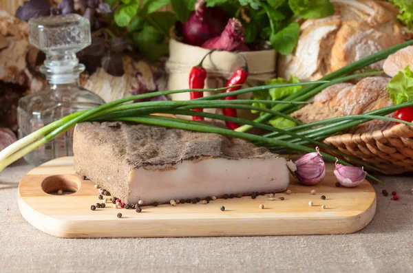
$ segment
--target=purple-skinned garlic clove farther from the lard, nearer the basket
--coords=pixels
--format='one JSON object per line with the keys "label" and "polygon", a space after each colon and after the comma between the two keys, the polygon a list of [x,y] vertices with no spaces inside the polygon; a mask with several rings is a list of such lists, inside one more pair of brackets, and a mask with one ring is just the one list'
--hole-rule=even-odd
{"label": "purple-skinned garlic clove farther from the lard, nearer the basket", "polygon": [[336,162],[334,174],[342,186],[353,188],[359,186],[366,178],[363,167],[344,166]]}

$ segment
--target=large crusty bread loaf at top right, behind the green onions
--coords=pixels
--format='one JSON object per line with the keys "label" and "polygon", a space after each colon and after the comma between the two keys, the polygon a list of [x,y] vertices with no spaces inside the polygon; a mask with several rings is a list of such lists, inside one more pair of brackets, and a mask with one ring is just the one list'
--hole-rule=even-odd
{"label": "large crusty bread loaf at top right, behind the green onions", "polygon": [[[335,14],[300,26],[295,52],[279,56],[277,74],[318,80],[354,61],[410,39],[397,21],[399,11],[377,0],[331,0]],[[383,62],[370,65],[381,69]]]}

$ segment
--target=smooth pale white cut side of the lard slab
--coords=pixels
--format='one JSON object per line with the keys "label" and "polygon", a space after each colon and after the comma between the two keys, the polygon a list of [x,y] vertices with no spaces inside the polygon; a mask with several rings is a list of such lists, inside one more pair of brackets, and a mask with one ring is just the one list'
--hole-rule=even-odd
{"label": "smooth pale white cut side of the lard slab", "polygon": [[135,168],[129,173],[129,201],[169,202],[171,199],[205,198],[254,191],[286,190],[286,159],[253,158],[186,160],[173,166]]}

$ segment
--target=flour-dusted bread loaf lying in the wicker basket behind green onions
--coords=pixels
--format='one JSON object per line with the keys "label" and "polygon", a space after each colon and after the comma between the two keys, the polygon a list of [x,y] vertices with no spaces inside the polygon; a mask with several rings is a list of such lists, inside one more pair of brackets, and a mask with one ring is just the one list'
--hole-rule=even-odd
{"label": "flour-dusted bread loaf lying in the wicker basket behind green onions", "polygon": [[[292,116],[297,120],[310,123],[339,116],[366,113],[393,105],[387,92],[390,78],[369,77],[359,83],[338,83],[321,91],[310,105],[295,111]],[[390,115],[392,116],[392,115]],[[366,133],[385,130],[394,122],[372,120],[349,129],[347,133]]]}

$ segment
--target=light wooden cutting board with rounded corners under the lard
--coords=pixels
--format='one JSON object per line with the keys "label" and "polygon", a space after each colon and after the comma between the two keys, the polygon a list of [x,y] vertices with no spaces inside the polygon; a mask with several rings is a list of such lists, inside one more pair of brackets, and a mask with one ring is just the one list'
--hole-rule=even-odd
{"label": "light wooden cutting board with rounded corners under the lard", "polygon": [[[376,210],[376,194],[367,181],[357,188],[337,188],[328,164],[326,178],[316,186],[290,183],[291,194],[216,199],[209,204],[169,204],[132,209],[106,208],[94,183],[75,175],[72,157],[47,162],[30,171],[19,185],[19,208],[33,226],[57,237],[211,237],[291,234],[346,234],[370,223]],[[50,194],[63,188],[70,195]],[[315,195],[310,191],[315,189]],[[49,193],[46,193],[46,192]],[[326,199],[322,200],[321,195]],[[313,201],[314,206],[308,202]],[[264,209],[260,209],[260,204]],[[326,205],[326,209],[321,205]],[[226,210],[222,212],[221,206]],[[121,212],[123,217],[116,215]]]}

